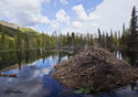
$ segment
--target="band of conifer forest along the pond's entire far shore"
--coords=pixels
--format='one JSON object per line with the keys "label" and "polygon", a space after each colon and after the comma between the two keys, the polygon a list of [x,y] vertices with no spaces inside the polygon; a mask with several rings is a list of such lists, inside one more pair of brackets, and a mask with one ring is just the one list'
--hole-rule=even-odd
{"label": "band of conifer forest along the pond's entire far shore", "polygon": [[97,30],[98,36],[91,33],[75,34],[67,32],[66,35],[53,32],[49,35],[39,33],[32,29],[13,29],[0,24],[0,51],[22,51],[22,50],[64,50],[82,48],[86,46],[100,46],[109,51],[113,50],[138,50],[138,15],[136,7],[132,8],[129,28],[123,24],[123,31],[110,32]]}

